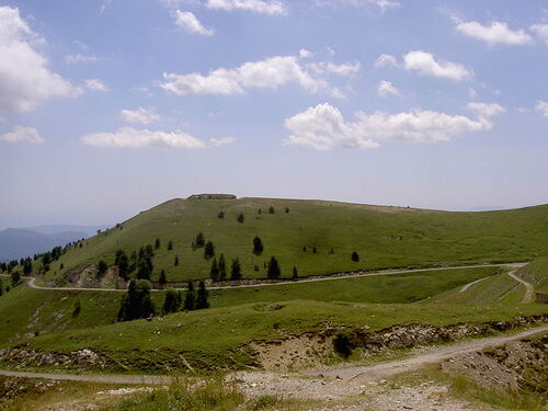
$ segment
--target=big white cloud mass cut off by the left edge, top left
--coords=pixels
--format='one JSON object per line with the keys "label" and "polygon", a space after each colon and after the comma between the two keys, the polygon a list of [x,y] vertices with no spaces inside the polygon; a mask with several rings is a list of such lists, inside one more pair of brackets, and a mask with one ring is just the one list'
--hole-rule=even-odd
{"label": "big white cloud mass cut off by the left edge, top left", "polygon": [[79,90],[48,70],[35,46],[45,41],[21,19],[19,9],[0,7],[0,110],[30,112],[49,98]]}

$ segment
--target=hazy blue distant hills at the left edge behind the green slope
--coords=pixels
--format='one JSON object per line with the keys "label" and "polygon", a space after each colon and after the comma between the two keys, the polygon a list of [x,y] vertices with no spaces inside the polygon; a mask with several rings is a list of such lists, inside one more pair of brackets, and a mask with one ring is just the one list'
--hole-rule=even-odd
{"label": "hazy blue distant hills at the left edge behind the green slope", "polygon": [[[0,231],[0,261],[9,261],[44,252],[67,242],[88,238],[99,227],[92,226],[39,226],[8,228]],[[101,227],[104,228],[104,227]]]}

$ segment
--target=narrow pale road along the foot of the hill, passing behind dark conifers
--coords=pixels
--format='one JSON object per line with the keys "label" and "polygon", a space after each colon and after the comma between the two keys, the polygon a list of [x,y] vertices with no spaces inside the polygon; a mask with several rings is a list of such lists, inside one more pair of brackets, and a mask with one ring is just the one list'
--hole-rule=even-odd
{"label": "narrow pale road along the foot of the hill, passing behind dark conifers", "polygon": [[[228,285],[224,287],[207,287],[207,289],[231,289],[231,288],[255,288],[255,287],[273,287],[279,285],[295,285],[302,283],[317,283],[346,278],[358,278],[358,277],[375,277],[379,275],[398,275],[398,274],[410,274],[410,273],[422,273],[427,271],[449,271],[449,270],[466,270],[466,269],[482,269],[482,267],[498,267],[498,266],[511,266],[514,269],[526,265],[526,263],[501,263],[501,264],[475,264],[475,265],[457,265],[457,266],[446,266],[446,267],[431,267],[431,269],[410,269],[410,270],[379,270],[370,272],[357,272],[355,274],[343,274],[343,275],[330,275],[324,277],[315,277],[299,281],[282,281],[278,283],[259,283],[259,284],[242,284],[242,285]],[[125,293],[125,289],[116,288],[85,288],[85,287],[43,287],[36,285],[36,278],[34,277],[22,277],[27,279],[27,285],[36,289],[47,289],[55,292],[100,292],[100,293]],[[472,285],[472,284],[470,284]],[[185,290],[186,288],[176,288],[180,290]],[[151,289],[151,292],[162,292],[161,289]]]}

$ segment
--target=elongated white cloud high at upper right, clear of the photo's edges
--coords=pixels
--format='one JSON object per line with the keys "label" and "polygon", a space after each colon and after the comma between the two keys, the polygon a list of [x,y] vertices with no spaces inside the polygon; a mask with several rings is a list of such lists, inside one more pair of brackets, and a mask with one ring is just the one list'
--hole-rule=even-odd
{"label": "elongated white cloud high at upper right, clear of the photo's edges", "polygon": [[488,26],[476,21],[459,22],[455,28],[465,36],[480,39],[489,45],[523,45],[533,41],[525,31],[513,31],[509,28],[509,25],[504,22],[491,22]]}

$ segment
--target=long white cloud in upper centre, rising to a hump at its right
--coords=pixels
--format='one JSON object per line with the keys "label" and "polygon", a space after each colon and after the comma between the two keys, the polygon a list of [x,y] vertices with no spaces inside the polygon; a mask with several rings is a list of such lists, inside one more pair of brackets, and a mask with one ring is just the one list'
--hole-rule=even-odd
{"label": "long white cloud in upper centre, rising to a hump at its right", "polygon": [[208,75],[164,73],[163,90],[178,94],[241,94],[249,89],[276,89],[297,83],[310,92],[330,90],[322,79],[310,76],[296,56],[276,56],[261,61],[246,62],[233,69],[218,68]]}

